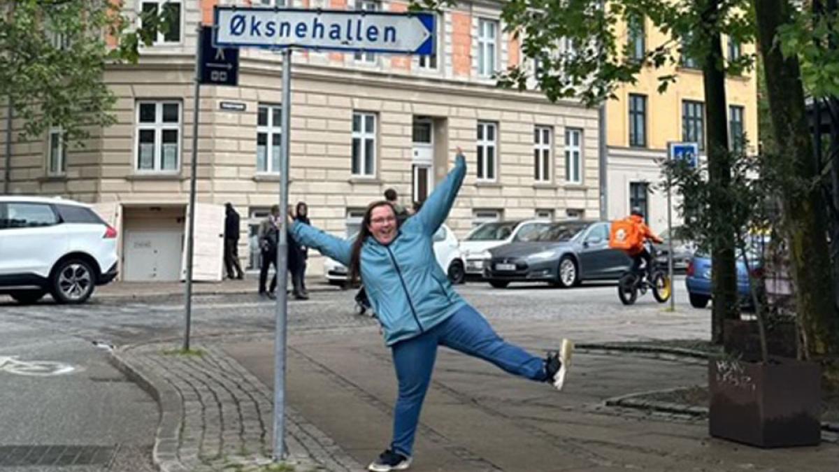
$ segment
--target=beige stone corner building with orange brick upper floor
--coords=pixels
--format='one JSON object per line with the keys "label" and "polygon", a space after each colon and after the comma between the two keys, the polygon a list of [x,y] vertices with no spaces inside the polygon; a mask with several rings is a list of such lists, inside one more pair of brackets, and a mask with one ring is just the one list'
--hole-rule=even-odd
{"label": "beige stone corner building with orange brick upper floor", "polygon": [[[126,8],[158,3],[164,2],[129,1]],[[60,130],[20,142],[20,123],[13,123],[11,168],[0,168],[9,172],[10,193],[96,203],[120,230],[125,280],[176,280],[180,274],[195,29],[202,20],[211,23],[215,4],[169,0],[180,29],[159,34],[137,65],[108,69],[117,123],[93,130],[84,148],[62,149],[55,139]],[[298,0],[294,6],[403,11],[406,3]],[[307,202],[313,224],[346,236],[367,203],[388,187],[406,205],[423,200],[460,146],[469,169],[448,220],[458,236],[492,218],[597,218],[597,110],[496,88],[492,71],[520,60],[519,44],[503,32],[499,13],[494,2],[446,10],[431,57],[294,52],[289,202]],[[238,87],[201,87],[199,277],[221,276],[224,202],[242,215],[244,265],[258,264],[251,236],[279,201],[282,67],[278,54],[242,50]],[[0,120],[5,127],[5,115]],[[0,149],[3,139],[0,134]],[[310,273],[319,272],[315,257]]]}

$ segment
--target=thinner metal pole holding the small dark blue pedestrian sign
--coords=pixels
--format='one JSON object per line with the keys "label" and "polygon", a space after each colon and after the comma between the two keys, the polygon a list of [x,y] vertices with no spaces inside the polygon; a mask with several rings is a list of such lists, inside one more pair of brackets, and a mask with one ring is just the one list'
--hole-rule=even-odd
{"label": "thinner metal pole holding the small dark blue pedestrian sign", "polygon": [[184,327],[184,350],[190,349],[190,325],[192,323],[192,253],[195,239],[195,181],[198,176],[198,116],[201,108],[201,25],[195,29],[198,40],[195,41],[195,100],[192,105],[192,169],[190,174],[190,206],[186,230],[186,290],[185,310],[186,321]]}

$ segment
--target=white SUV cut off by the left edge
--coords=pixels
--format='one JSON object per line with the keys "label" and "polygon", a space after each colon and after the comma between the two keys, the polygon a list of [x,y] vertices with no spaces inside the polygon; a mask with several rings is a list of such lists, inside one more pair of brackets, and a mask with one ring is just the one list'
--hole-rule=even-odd
{"label": "white SUV cut off by the left edge", "polygon": [[117,276],[117,230],[91,207],[44,197],[0,197],[0,294],[34,303],[85,302]]}

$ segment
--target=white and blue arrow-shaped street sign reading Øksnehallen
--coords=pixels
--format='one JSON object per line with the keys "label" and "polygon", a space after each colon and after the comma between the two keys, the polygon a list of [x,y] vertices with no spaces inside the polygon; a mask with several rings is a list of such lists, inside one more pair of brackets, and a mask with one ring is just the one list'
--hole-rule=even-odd
{"label": "white and blue arrow-shaped street sign reading \u00d8ksnehallen", "polygon": [[430,55],[432,13],[216,8],[216,46],[301,47]]}

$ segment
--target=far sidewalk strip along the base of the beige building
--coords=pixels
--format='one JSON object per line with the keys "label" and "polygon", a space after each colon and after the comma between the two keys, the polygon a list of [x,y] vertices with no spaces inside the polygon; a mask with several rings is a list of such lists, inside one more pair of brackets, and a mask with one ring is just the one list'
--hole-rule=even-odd
{"label": "far sidewalk strip along the base of the beige building", "polygon": [[[194,295],[231,295],[257,293],[259,275],[245,275],[245,279],[225,279],[220,282],[192,282],[192,293]],[[290,286],[290,282],[289,282]],[[341,290],[340,287],[331,286],[324,281],[323,277],[311,276],[306,279],[306,288],[309,291],[331,291]],[[183,296],[186,284],[180,281],[166,282],[125,282],[114,281],[105,286],[96,287],[95,297],[101,298],[149,298],[160,296]]]}

